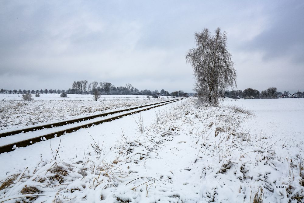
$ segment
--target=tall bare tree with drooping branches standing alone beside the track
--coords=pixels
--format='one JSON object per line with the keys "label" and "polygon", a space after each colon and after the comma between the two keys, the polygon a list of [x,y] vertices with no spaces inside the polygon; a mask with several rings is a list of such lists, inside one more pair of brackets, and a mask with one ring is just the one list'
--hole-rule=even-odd
{"label": "tall bare tree with drooping branches standing alone beside the track", "polygon": [[212,36],[208,29],[203,29],[194,35],[197,47],[186,55],[196,79],[194,90],[201,101],[217,104],[219,92],[237,86],[236,70],[226,45],[226,32],[222,33],[217,28]]}

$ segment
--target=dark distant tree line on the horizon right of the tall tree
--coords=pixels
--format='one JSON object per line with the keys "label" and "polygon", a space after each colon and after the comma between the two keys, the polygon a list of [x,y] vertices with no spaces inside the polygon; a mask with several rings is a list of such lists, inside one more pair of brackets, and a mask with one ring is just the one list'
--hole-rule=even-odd
{"label": "dark distant tree line on the horizon right of the tall tree", "polygon": [[[278,95],[290,95],[290,93],[287,91],[278,92],[276,87],[269,87],[266,90],[259,91],[257,89],[247,88],[242,90],[231,90],[231,91],[225,91],[224,93],[220,93],[220,96],[222,97],[230,97],[230,98],[247,98],[247,99],[269,99],[269,98],[278,98]],[[301,98],[304,97],[304,92],[298,91],[297,93],[294,93],[297,97]]]}

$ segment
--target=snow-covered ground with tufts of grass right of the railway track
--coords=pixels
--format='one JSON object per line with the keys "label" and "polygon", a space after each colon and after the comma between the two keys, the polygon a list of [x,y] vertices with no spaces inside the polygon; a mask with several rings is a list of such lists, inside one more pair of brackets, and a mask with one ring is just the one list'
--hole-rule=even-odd
{"label": "snow-covered ground with tufts of grass right of the railway track", "polygon": [[157,107],[0,154],[0,202],[303,201],[303,115],[304,99]]}

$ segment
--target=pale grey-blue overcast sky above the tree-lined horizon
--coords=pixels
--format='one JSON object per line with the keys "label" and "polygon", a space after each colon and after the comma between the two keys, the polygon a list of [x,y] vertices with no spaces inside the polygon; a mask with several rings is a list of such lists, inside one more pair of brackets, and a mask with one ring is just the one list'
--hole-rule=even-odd
{"label": "pale grey-blue overcast sky above the tree-lined horizon", "polygon": [[192,92],[194,32],[227,32],[237,89],[304,91],[304,1],[0,1],[0,88]]}

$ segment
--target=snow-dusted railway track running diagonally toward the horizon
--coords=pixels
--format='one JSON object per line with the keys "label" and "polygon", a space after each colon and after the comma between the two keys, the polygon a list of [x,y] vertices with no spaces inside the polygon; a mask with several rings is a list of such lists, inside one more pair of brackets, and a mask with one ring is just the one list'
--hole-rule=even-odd
{"label": "snow-dusted railway track running diagonally toward the horizon", "polygon": [[[88,127],[91,127],[91,126],[94,126],[94,125],[98,125],[98,124],[102,124],[102,123],[105,123],[105,122],[113,121],[113,120],[116,120],[116,119],[124,117],[124,116],[128,116],[128,115],[131,115],[131,114],[136,114],[136,113],[139,113],[141,111],[150,110],[150,109],[153,109],[155,107],[160,107],[160,106],[163,106],[163,105],[166,105],[166,104],[169,104],[169,103],[173,103],[173,102],[176,102],[176,101],[180,101],[180,100],[183,100],[183,99],[185,99],[185,98],[171,100],[171,101],[163,101],[163,102],[158,102],[158,103],[153,103],[153,104],[147,104],[147,105],[143,105],[143,106],[132,107],[132,108],[123,109],[123,110],[116,110],[116,111],[112,111],[112,112],[108,112],[108,113],[96,114],[96,115],[86,116],[86,117],[82,117],[82,118],[78,118],[78,119],[67,120],[67,121],[63,121],[63,122],[56,122],[56,123],[51,123],[51,124],[39,125],[39,126],[35,126],[35,127],[30,127],[30,128],[21,128],[21,129],[14,130],[14,131],[4,132],[4,133],[0,134],[0,138],[10,136],[10,135],[17,135],[19,133],[36,131],[36,130],[41,130],[41,135],[39,135],[37,137],[28,138],[28,139],[25,139],[25,140],[22,140],[22,141],[18,141],[18,142],[14,142],[14,143],[10,143],[10,144],[7,144],[7,145],[0,146],[0,153],[10,152],[10,151],[13,151],[16,147],[26,147],[28,145],[34,144],[36,142],[40,142],[42,140],[46,140],[46,139],[50,139],[50,138],[54,138],[54,137],[59,137],[61,135],[65,135],[67,133],[77,131],[81,128],[88,128]],[[138,110],[136,110],[136,109],[138,109]],[[132,110],[135,110],[135,111],[132,111]],[[125,112],[125,111],[128,111],[128,112],[125,113],[125,114],[119,114],[119,113],[122,113],[122,112]],[[112,114],[118,114],[118,115],[113,115],[112,117],[107,117],[105,119],[92,121],[92,122],[85,123],[85,124],[81,123],[81,121],[88,121],[88,120],[92,120],[92,119],[95,119],[95,118],[98,118],[98,117],[109,116],[109,115],[112,115]],[[79,124],[77,126],[74,126],[74,127],[60,129],[59,131],[55,131],[55,132],[48,133],[48,134],[43,133],[43,130],[47,129],[47,128],[54,128],[54,127],[64,126],[64,125],[67,125],[67,124],[75,124],[77,122],[79,122]]]}

